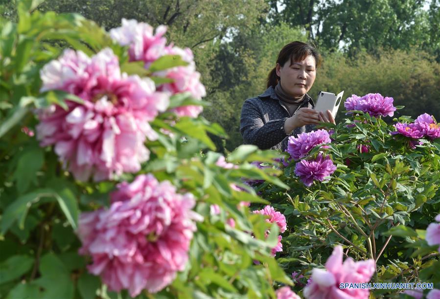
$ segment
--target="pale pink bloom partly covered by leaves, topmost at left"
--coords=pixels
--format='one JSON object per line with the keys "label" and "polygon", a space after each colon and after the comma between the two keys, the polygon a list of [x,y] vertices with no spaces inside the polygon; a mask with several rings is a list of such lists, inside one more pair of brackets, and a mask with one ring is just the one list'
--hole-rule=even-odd
{"label": "pale pink bloom partly covered by leaves, topmost at left", "polygon": [[[153,73],[153,76],[172,79],[172,83],[164,83],[157,88],[159,91],[167,91],[171,94],[189,92],[196,100],[201,100],[206,95],[205,86],[200,82],[200,73],[195,69],[194,57],[189,48],[166,44],[162,37],[166,32],[166,26],[159,26],[156,34],[153,28],[146,23],[138,23],[136,20],[122,19],[122,26],[110,30],[110,36],[121,45],[130,45],[130,61],[143,61],[145,68],[163,55],[179,55],[188,63],[185,66],[176,66]],[[197,117],[203,110],[202,106],[182,106],[174,108],[178,116]]]}

